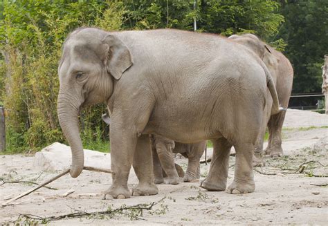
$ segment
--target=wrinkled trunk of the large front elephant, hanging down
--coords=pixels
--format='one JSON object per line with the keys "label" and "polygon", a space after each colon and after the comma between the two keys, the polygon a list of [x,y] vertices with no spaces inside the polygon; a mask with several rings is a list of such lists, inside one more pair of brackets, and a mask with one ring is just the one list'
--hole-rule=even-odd
{"label": "wrinkled trunk of the large front elephant, hanging down", "polygon": [[72,178],[76,178],[84,167],[84,153],[78,120],[80,104],[72,104],[72,100],[61,93],[60,91],[60,95],[58,95],[57,114],[64,136],[71,146],[72,165],[70,173]]}

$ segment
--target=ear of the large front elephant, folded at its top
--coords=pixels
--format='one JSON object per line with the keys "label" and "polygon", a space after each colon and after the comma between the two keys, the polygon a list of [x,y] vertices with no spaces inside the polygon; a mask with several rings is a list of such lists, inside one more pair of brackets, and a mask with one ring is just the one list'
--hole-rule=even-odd
{"label": "ear of the large front elephant, folded at its top", "polygon": [[125,70],[133,64],[129,48],[115,35],[107,35],[102,39],[102,43],[106,49],[104,64],[107,72],[115,79],[120,79]]}

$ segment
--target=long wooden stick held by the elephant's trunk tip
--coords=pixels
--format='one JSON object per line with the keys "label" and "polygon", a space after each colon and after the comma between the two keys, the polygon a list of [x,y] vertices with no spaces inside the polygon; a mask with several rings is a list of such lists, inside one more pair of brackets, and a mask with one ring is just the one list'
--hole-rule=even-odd
{"label": "long wooden stick held by the elephant's trunk tip", "polygon": [[[89,171],[96,171],[96,172],[104,172],[104,173],[113,173],[113,171],[111,171],[110,169],[103,169],[103,168],[97,168],[97,167],[83,167],[83,169],[85,170],[89,170]],[[5,203],[2,203],[1,205],[3,207],[6,207],[6,205],[8,205],[9,203],[12,203],[13,201],[22,198],[24,196],[27,196],[28,194],[32,193],[33,191],[36,191],[37,189],[40,189],[46,185],[48,185],[49,183],[53,182],[54,180],[57,180],[58,178],[66,175],[67,173],[69,173],[71,169],[66,169],[65,171],[63,171],[62,173],[58,174],[57,176],[51,178],[50,180],[47,180],[46,182],[43,182],[41,185],[38,185],[37,187],[30,189],[22,194],[20,194],[19,196],[16,196],[15,198],[12,198],[10,200],[8,200]]]}

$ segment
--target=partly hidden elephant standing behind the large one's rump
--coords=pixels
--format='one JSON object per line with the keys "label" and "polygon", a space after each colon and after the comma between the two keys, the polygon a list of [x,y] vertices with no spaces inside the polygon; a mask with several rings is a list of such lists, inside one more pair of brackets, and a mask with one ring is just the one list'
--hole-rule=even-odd
{"label": "partly hidden elephant standing behind the large one's rump", "polygon": [[[271,46],[268,46],[268,44],[261,41],[255,35],[232,35],[229,39],[246,46],[250,50],[253,50],[263,60],[273,77],[273,81],[275,82],[275,88],[277,90],[280,106],[287,109],[293,86],[293,67],[289,62],[289,59]],[[272,101],[270,99],[271,97],[268,93],[265,113],[266,117],[264,117],[262,129],[255,144],[255,158],[253,158],[253,164],[257,166],[265,164],[262,158],[263,153],[266,153],[271,157],[283,155],[282,124],[284,123],[286,111],[280,111],[276,114],[273,113],[273,111],[271,111]],[[266,126],[268,126],[269,132],[268,147],[266,147],[266,150],[263,151]]]}

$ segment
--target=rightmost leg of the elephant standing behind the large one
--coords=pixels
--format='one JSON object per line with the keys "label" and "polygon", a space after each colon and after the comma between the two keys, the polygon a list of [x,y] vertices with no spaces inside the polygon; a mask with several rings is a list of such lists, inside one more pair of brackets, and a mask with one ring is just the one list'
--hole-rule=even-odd
{"label": "rightmost leg of the elephant standing behind the large one", "polygon": [[266,149],[266,154],[271,157],[278,157],[283,155],[282,150],[282,124],[286,111],[272,115],[268,122],[269,131],[269,147]]}

